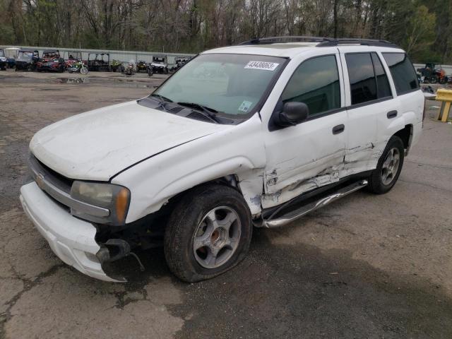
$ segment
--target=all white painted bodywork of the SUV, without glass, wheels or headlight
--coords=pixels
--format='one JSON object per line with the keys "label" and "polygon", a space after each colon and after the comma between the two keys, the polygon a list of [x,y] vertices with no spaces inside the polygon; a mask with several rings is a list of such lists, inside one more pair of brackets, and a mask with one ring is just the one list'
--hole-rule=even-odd
{"label": "all white painted bodywork of the SUV, without glass, wheels or headlight", "polygon": [[[424,95],[420,90],[397,96],[386,69],[393,100],[305,121],[278,131],[268,123],[292,73],[303,61],[335,55],[339,66],[341,107],[350,105],[350,86],[343,52],[403,52],[369,46],[315,47],[290,43],[266,47],[225,47],[206,53],[262,54],[290,58],[268,95],[261,112],[242,124],[231,126],[178,117],[157,109],[126,102],[59,121],[32,138],[30,150],[45,165],[72,179],[111,180],[131,191],[126,222],[159,210],[169,198],[198,184],[234,176],[251,215],[278,206],[316,187],[337,182],[347,175],[374,169],[388,139],[405,125],[412,125],[411,144],[422,131]],[[275,48],[276,47],[276,48]],[[247,105],[247,104],[246,104]],[[246,105],[242,104],[243,110]],[[399,114],[387,119],[386,113]],[[343,133],[333,135],[343,124]],[[89,247],[95,253],[95,230],[73,218],[37,189],[23,186],[22,201],[30,218],[52,249],[65,260],[57,244],[66,244],[66,262],[81,272],[88,263],[78,257]],[[38,222],[36,221],[38,220]],[[49,235],[53,234],[53,235]],[[96,247],[97,246],[97,247]],[[78,251],[81,249],[81,251]],[[87,259],[83,259],[87,260]],[[92,263],[89,263],[92,265]]]}

